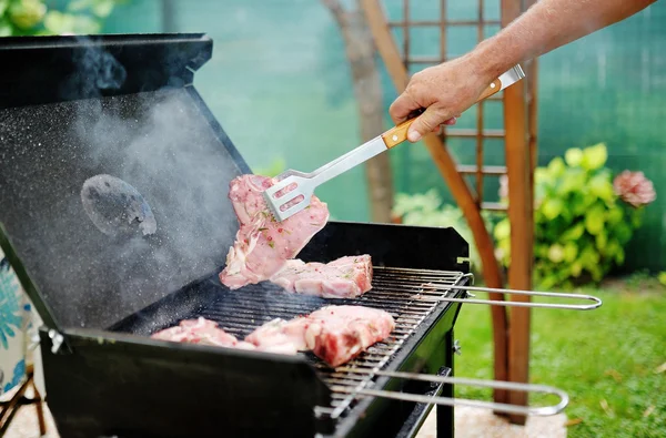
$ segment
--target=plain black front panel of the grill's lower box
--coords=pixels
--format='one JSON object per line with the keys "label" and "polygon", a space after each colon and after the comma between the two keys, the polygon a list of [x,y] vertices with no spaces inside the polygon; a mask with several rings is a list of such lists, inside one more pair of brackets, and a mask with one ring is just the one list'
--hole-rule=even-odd
{"label": "plain black front panel of the grill's lower box", "polygon": [[41,333],[49,408],[63,438],[313,437],[327,389],[303,361],[109,334],[67,334],[53,355]]}

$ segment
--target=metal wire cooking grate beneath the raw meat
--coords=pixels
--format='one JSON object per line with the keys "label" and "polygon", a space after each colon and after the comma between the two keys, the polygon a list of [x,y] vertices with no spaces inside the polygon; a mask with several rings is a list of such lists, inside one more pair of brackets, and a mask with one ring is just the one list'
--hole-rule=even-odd
{"label": "metal wire cooking grate beneath the raw meat", "polygon": [[[290,319],[302,314],[307,314],[326,305],[363,305],[389,312],[396,320],[396,329],[389,340],[377,343],[367,352],[345,364],[344,366],[362,369],[381,370],[414,370],[413,367],[404,367],[403,361],[407,358],[417,344],[422,340],[424,332],[427,332],[436,323],[437,318],[445,315],[452,303],[437,303],[434,297],[464,296],[464,293],[455,292],[456,286],[466,284],[467,277],[462,272],[433,271],[433,269],[405,269],[396,267],[375,266],[373,276],[373,289],[359,298],[323,299],[304,295],[290,294],[279,286],[270,283],[249,285],[240,291],[230,292],[219,285],[216,277],[209,278],[204,283],[218,286],[215,293],[204,295],[201,306],[188,306],[189,310],[179,314],[178,317],[167,324],[155,327],[155,313],[163,313],[164,305],[155,303],[149,309],[141,310],[130,317],[117,323],[109,329],[112,332],[141,334],[143,336],[159,329],[176,325],[182,319],[204,317],[219,323],[225,332],[233,334],[239,339],[244,338],[254,328],[275,318]],[[425,287],[424,287],[425,284]],[[438,287],[433,286],[433,284]],[[196,287],[196,286],[195,286]],[[178,294],[186,294],[188,289],[179,291],[174,297],[170,297],[168,314],[171,309],[182,309],[179,305]],[[423,301],[430,298],[430,301]],[[390,301],[390,302],[389,302]],[[271,303],[266,305],[266,303]],[[263,308],[262,308],[263,307]],[[453,308],[452,308],[453,309]],[[453,309],[457,315],[457,310]],[[434,320],[431,320],[434,317]],[[455,318],[454,318],[455,319]],[[454,320],[445,323],[447,328],[453,327]],[[366,374],[340,373],[325,365],[312,354],[306,354],[307,361],[317,370],[322,381],[331,389],[337,386],[361,389],[384,389],[391,379]],[[374,358],[374,359],[373,359]],[[452,364],[444,360],[447,367]],[[435,364],[430,371],[441,368]],[[451,368],[448,368],[451,369]],[[418,368],[423,370],[423,368]],[[347,380],[347,383],[345,383]],[[350,394],[332,391],[332,404],[330,406],[316,406],[315,416],[325,418],[324,422],[331,420],[333,427],[353,428],[360,415],[366,410],[372,403],[357,403],[356,397]],[[360,406],[361,405],[361,406]],[[351,421],[347,421],[347,417]],[[349,422],[349,425],[347,425]]]}

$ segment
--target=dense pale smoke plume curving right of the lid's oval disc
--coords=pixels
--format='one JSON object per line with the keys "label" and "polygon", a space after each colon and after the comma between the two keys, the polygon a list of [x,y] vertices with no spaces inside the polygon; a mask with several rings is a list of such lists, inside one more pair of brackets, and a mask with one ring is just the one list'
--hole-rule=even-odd
{"label": "dense pale smoke plume curving right of the lid's oval disc", "polygon": [[[140,108],[122,114],[132,101]],[[107,242],[100,254],[117,262],[113,293],[138,309],[224,263],[236,227],[226,192],[238,170],[184,92],[113,103],[80,113],[74,130],[90,170],[137,187],[159,224],[154,234]]]}

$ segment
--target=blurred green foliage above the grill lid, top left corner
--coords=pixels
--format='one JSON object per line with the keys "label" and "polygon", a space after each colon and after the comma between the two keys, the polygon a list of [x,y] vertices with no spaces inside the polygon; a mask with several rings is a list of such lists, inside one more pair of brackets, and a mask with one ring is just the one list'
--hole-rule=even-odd
{"label": "blurred green foliage above the grill lid, top left corner", "polygon": [[44,0],[0,0],[0,37],[93,34],[113,8],[127,0],[71,0],[57,8]]}

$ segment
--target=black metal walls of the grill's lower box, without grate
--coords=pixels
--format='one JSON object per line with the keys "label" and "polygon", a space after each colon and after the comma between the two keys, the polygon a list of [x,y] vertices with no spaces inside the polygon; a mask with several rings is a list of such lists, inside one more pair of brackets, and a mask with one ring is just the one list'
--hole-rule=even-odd
{"label": "black metal walls of the grill's lower box, without grate", "polygon": [[[345,247],[341,242],[351,244]],[[376,245],[377,242],[382,244]],[[404,242],[412,245],[401,245]],[[31,286],[30,277],[10,242],[0,238],[0,244],[17,268],[20,282]],[[343,255],[367,253],[376,266],[430,271],[435,266],[440,267],[438,271],[463,272],[458,268],[468,264],[461,254],[464,256],[467,251],[467,243],[453,228],[330,222],[299,257],[327,262]],[[425,254],[440,256],[427,257]],[[220,414],[206,410],[210,405],[233,406],[236,410],[226,417],[233,421],[226,425],[225,430],[241,436],[249,432],[290,437],[313,437],[316,434],[402,437],[404,434],[412,436],[410,434],[417,430],[432,405],[424,407],[411,401],[366,397],[357,403],[354,415],[339,424],[315,418],[317,406],[330,405],[331,389],[303,358],[161,342],[145,336],[172,324],[179,313],[185,316],[199,306],[196,297],[202,292],[198,287],[219,285],[216,274],[185,286],[184,301],[174,301],[175,294],[171,294],[138,312],[137,318],[149,320],[143,332],[114,333],[110,330],[112,327],[105,330],[40,328],[47,397],[64,436],[216,436]],[[468,278],[463,276],[463,282]],[[432,282],[424,278],[423,283]],[[220,286],[214,286],[213,293],[219,292]],[[36,288],[32,296],[41,297]],[[454,296],[465,295],[458,289]],[[461,303],[436,303],[435,310],[423,320],[384,370],[451,374],[453,326],[461,306]],[[198,376],[186,376],[192,368],[196,369]],[[184,376],[174,377],[175,370]],[[178,388],[174,391],[173,381],[176,387],[189,385],[192,390]],[[78,385],[81,383],[83,385]],[[92,383],[94,389],[91,389]],[[414,391],[415,388],[418,394],[432,394],[434,389],[385,376],[379,377],[374,387],[397,391]],[[452,397],[453,386],[440,385],[435,393]],[[145,401],[147,394],[150,403]],[[253,394],[261,394],[261,397]],[[307,396],[304,397],[304,394]],[[239,395],[249,399],[236,400]],[[100,399],[104,403],[100,404]],[[109,405],[113,407],[109,408]],[[201,407],[201,411],[196,407]],[[246,417],[252,409],[261,412],[261,421],[256,416]],[[242,418],[236,418],[236,412]],[[193,422],[183,430],[179,415],[185,414]],[[147,422],[147,418],[159,421]],[[453,436],[453,407],[441,406],[437,409],[437,424],[440,436]]]}

